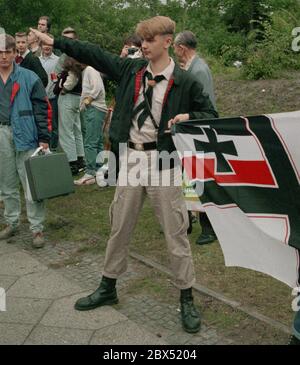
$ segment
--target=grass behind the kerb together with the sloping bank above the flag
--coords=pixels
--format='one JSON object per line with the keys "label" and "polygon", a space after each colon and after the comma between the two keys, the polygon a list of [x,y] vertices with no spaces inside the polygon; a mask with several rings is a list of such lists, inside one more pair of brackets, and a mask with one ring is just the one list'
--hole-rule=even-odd
{"label": "grass behind the kerb together with the sloping bank above the flag", "polygon": [[[276,80],[246,81],[238,80],[238,70],[219,74],[215,77],[215,86],[220,115],[255,115],[296,110],[300,99],[299,76],[298,72],[282,75],[283,78]],[[76,194],[48,201],[49,239],[53,242],[78,241],[82,253],[104,253],[110,233],[108,209],[113,194],[114,188],[84,186],[77,187]],[[199,233],[200,227],[196,224],[190,242],[198,283],[290,325],[294,316],[291,310],[291,289],[259,272],[225,267],[223,253],[217,242],[202,247],[194,244]],[[147,200],[131,249],[156,262],[168,264],[166,243]],[[143,279],[135,285],[138,289],[150,288],[153,293],[165,290],[149,279]],[[223,325],[226,325],[225,314],[224,318],[220,314]],[[215,316],[213,312],[209,315]]]}

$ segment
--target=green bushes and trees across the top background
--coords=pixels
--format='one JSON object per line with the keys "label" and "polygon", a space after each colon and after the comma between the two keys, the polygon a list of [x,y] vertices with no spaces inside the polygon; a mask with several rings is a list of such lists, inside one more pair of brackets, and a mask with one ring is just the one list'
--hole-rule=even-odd
{"label": "green bushes and trees across the top background", "polygon": [[177,32],[196,34],[199,52],[214,65],[242,61],[247,78],[300,67],[291,51],[292,29],[300,26],[298,0],[0,0],[0,14],[8,33],[36,26],[48,15],[55,36],[73,26],[81,39],[117,54],[139,21],[166,15],[176,21]]}

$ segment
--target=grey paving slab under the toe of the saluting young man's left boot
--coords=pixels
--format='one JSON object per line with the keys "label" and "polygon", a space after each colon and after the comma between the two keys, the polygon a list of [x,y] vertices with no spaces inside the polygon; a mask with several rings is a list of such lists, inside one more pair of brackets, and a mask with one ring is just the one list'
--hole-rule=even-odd
{"label": "grey paving slab under the toe of the saluting young man's left boot", "polygon": [[76,311],[74,303],[78,298],[87,294],[90,293],[81,293],[56,300],[43,317],[41,324],[53,327],[97,330],[127,320],[127,317],[111,306],[104,306],[91,311]]}

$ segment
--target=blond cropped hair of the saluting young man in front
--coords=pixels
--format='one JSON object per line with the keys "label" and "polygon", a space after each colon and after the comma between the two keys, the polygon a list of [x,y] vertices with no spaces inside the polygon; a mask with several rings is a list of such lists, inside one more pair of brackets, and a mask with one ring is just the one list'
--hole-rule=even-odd
{"label": "blond cropped hair of the saluting young man in front", "polygon": [[166,16],[155,16],[138,23],[136,34],[142,39],[153,39],[156,35],[174,35],[176,23]]}

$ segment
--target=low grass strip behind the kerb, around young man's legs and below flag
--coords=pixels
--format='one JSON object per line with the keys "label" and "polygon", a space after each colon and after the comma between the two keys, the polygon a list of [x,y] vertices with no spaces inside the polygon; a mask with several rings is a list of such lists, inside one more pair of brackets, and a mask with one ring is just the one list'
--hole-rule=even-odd
{"label": "low grass strip behind the kerb, around young man's legs and below flag", "polygon": [[[110,233],[108,208],[113,194],[113,188],[100,189],[97,186],[85,186],[77,187],[76,194],[69,197],[48,201],[49,239],[53,242],[78,241],[81,254],[104,253]],[[66,220],[61,217],[68,218]],[[225,267],[218,242],[206,246],[193,244],[199,233],[200,226],[195,224],[190,242],[197,282],[290,325],[293,317],[291,310],[293,298],[290,288],[258,272]],[[148,200],[139,218],[131,250],[168,265],[164,236],[160,233],[160,225]],[[165,289],[156,284],[152,277],[143,278],[135,282],[134,286],[133,289],[137,291],[145,287],[152,294],[165,296]]]}

